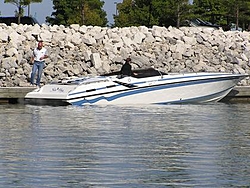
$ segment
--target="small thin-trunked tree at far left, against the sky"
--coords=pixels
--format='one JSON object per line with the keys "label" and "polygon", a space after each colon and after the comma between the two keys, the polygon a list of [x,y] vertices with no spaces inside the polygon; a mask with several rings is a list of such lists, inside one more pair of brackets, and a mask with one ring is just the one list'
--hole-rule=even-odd
{"label": "small thin-trunked tree at far left, against the sky", "polygon": [[16,16],[18,17],[18,24],[20,24],[21,17],[24,13],[24,8],[31,3],[40,3],[42,0],[4,0],[4,3],[10,3],[17,7]]}

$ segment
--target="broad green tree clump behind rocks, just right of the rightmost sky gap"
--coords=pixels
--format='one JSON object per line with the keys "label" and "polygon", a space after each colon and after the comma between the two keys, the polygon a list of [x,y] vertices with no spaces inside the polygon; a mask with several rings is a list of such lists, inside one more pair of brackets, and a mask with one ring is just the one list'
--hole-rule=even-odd
{"label": "broad green tree clump behind rocks, just right of the rightmost sky gap", "polygon": [[124,0],[117,5],[115,26],[177,26],[190,14],[188,0]]}

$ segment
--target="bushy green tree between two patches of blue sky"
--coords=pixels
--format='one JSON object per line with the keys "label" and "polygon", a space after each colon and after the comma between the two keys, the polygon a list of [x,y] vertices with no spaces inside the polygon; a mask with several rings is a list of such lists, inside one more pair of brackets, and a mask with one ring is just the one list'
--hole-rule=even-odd
{"label": "bushy green tree between two patches of blue sky", "polygon": [[53,0],[55,12],[46,21],[52,25],[98,25],[106,26],[107,14],[100,0]]}

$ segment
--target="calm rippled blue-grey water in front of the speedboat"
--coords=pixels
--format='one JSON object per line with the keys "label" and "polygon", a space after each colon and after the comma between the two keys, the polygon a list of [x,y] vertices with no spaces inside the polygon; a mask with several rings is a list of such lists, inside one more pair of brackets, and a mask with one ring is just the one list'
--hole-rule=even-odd
{"label": "calm rippled blue-grey water in front of the speedboat", "polygon": [[0,187],[249,187],[250,104],[0,105]]}

